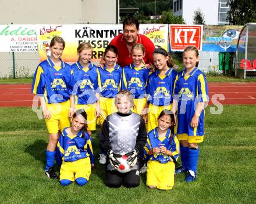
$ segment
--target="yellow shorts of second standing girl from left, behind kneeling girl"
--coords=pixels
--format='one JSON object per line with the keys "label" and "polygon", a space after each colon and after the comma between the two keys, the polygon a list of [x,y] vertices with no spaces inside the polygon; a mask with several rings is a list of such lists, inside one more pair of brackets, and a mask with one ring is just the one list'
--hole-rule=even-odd
{"label": "yellow shorts of second standing girl from left, behind kneeling girl", "polygon": [[87,130],[93,131],[96,130],[96,116],[95,116],[95,110],[96,110],[97,103],[94,104],[77,104],[77,109],[84,109],[87,114]]}

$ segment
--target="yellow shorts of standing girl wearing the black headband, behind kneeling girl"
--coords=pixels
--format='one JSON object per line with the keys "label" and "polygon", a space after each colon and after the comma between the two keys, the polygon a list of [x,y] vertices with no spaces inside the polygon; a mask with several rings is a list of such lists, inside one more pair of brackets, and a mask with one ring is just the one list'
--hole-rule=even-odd
{"label": "yellow shorts of standing girl wearing the black headband, behind kneeling girl", "polygon": [[147,132],[154,129],[158,126],[157,118],[163,110],[172,110],[172,104],[165,106],[157,106],[150,103],[148,106],[148,123],[147,123]]}

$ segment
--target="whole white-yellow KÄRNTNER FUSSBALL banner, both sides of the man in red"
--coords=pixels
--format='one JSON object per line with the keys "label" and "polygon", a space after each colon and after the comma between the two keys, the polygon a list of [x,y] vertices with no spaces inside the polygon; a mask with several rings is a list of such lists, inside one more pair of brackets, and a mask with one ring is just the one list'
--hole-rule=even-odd
{"label": "whole white-yellow K\u00c4RNTNER FUSSBALL banner, both sides of the man in red", "polygon": [[[54,36],[62,37],[66,47],[62,59],[67,62],[77,61],[76,49],[79,43],[89,42],[93,46],[92,61],[99,61],[109,42],[123,32],[122,24],[63,24],[37,25],[38,52],[40,60],[47,59],[49,43]],[[140,24],[140,34],[168,50],[168,24]]]}

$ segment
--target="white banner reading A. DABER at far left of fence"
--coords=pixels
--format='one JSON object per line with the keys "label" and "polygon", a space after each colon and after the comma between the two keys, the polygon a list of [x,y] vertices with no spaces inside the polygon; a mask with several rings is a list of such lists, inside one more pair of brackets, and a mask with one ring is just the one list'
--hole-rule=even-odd
{"label": "white banner reading A. DABER at far left of fence", "polygon": [[35,25],[0,25],[0,44],[0,52],[37,52]]}

